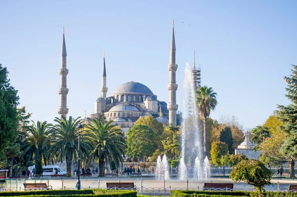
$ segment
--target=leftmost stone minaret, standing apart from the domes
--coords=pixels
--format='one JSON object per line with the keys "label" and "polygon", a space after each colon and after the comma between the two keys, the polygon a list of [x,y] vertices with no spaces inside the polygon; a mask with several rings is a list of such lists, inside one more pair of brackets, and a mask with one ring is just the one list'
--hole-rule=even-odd
{"label": "leftmost stone minaret, standing apart from the domes", "polygon": [[59,69],[60,74],[60,88],[58,90],[60,95],[60,105],[58,109],[58,114],[60,115],[60,119],[62,116],[66,118],[68,114],[67,108],[67,94],[69,89],[67,88],[67,74],[68,69],[66,68],[66,44],[65,44],[65,36],[64,36],[64,27],[63,27],[63,40],[62,40],[62,50],[61,50],[61,68]]}

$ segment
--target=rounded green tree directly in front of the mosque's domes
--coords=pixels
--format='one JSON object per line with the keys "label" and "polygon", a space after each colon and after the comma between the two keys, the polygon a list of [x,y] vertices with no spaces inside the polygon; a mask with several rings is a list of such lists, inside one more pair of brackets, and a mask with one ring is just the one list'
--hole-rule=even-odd
{"label": "rounded green tree directly in front of the mosque's domes", "polygon": [[142,159],[150,156],[155,147],[155,133],[148,126],[134,125],[127,132],[127,155]]}

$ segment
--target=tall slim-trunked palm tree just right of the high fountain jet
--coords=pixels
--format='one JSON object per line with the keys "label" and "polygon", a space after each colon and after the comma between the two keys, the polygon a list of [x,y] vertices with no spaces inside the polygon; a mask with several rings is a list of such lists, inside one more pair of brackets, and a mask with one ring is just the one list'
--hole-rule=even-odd
{"label": "tall slim-trunked palm tree just right of the high fountain jet", "polygon": [[217,105],[216,95],[211,87],[202,86],[196,90],[196,102],[200,116],[203,120],[203,136],[204,136],[204,155],[208,154],[207,146],[207,117],[209,117],[210,111],[214,110]]}

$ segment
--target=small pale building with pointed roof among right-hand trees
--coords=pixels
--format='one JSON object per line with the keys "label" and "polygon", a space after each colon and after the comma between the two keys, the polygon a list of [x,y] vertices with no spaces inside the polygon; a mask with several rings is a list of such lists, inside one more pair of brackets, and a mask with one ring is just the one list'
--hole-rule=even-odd
{"label": "small pale building with pointed roof among right-hand trees", "polygon": [[253,150],[255,145],[257,144],[249,141],[249,132],[247,131],[245,140],[237,148],[235,148],[235,154],[244,154],[246,157],[259,160],[259,155],[262,151]]}

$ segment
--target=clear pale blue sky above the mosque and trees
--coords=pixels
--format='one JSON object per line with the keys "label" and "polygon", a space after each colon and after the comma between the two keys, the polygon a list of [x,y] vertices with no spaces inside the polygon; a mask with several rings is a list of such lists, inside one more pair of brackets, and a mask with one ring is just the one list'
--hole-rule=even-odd
{"label": "clear pale blue sky above the mosque and trees", "polygon": [[137,81],[168,102],[174,19],[177,104],[187,63],[201,66],[201,85],[218,105],[212,119],[236,116],[262,125],[290,102],[284,76],[297,64],[297,0],[1,0],[0,64],[34,121],[58,117],[63,26],[68,116],[94,112],[105,52],[107,95]]}

